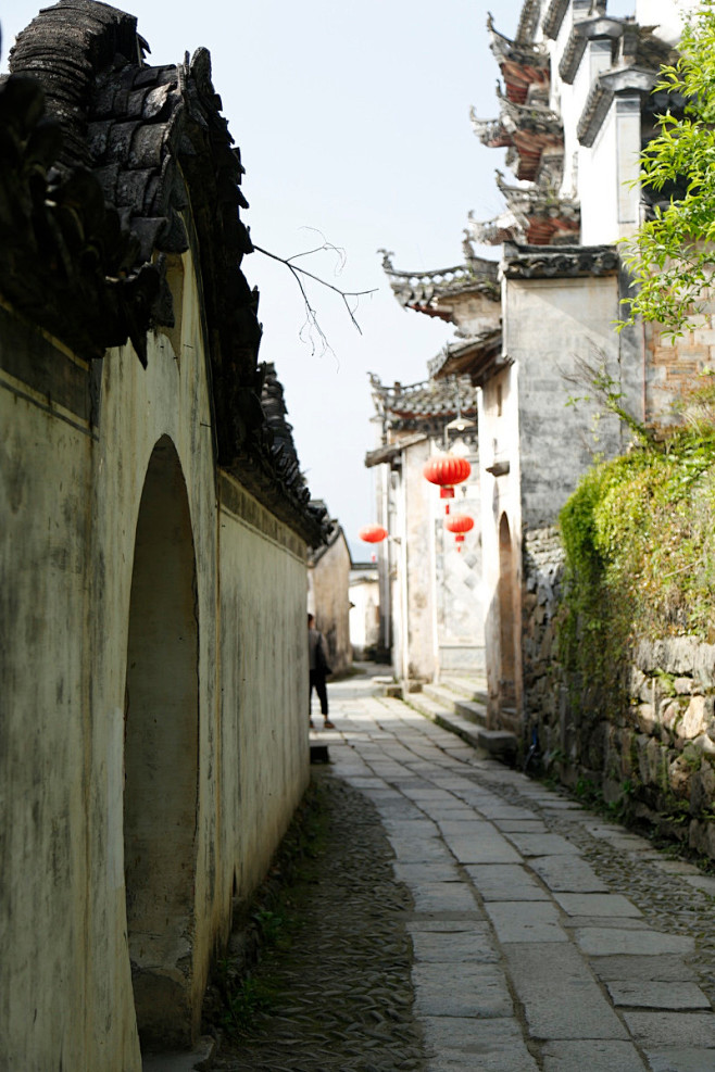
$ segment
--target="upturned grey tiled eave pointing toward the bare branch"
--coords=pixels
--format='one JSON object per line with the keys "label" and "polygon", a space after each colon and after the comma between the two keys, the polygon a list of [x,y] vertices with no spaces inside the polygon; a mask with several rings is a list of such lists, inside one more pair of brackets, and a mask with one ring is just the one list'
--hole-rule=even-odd
{"label": "upturned grey tiled eave pointing toward the bare branch", "polygon": [[440,299],[457,294],[479,293],[498,302],[500,300],[499,266],[494,261],[469,257],[466,264],[434,272],[398,272],[392,266],[392,254],[382,253],[382,270],[390,281],[392,293],[405,308],[413,308],[428,316],[450,320],[450,310],[440,310]]}

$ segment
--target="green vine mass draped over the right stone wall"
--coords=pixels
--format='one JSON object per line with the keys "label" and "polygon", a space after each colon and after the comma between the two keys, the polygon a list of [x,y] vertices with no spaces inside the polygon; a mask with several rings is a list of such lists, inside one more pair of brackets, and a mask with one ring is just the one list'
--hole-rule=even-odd
{"label": "green vine mass draped over the right stone wall", "polygon": [[623,709],[638,639],[715,642],[715,382],[683,399],[686,425],[639,437],[581,479],[561,516],[566,553],[559,645],[572,704]]}

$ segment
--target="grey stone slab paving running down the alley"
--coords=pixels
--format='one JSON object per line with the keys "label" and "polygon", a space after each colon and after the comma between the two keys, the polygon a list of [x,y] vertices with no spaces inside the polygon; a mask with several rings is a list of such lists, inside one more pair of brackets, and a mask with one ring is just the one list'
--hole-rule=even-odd
{"label": "grey stone slab paving running down the alley", "polygon": [[[484,758],[368,679],[329,692],[336,730],[317,734],[329,778],[372,802],[394,854],[397,884],[389,849],[375,843],[372,873],[361,863],[363,892],[377,901],[366,931],[398,975],[402,962],[407,991],[400,996],[398,980],[391,996],[376,995],[373,1032],[340,1017],[351,975],[356,991],[369,985],[346,917],[352,951],[343,956],[334,933],[324,946],[335,985],[326,993],[310,970],[296,981],[299,1020],[301,986],[315,1010],[314,1037],[287,1016],[274,1030],[291,1058],[272,1063],[259,1045],[219,1067],[715,1072],[715,879]],[[365,805],[368,825],[372,815]],[[396,953],[402,939],[385,930],[400,928],[412,944],[412,1011],[410,942]],[[390,1026],[400,1002],[404,1016]],[[391,1050],[380,1048],[386,1035]]]}

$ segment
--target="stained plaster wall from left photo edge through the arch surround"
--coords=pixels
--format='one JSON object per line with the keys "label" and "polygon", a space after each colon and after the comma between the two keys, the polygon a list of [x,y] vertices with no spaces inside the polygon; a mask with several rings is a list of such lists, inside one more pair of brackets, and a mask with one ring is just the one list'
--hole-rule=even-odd
{"label": "stained plaster wall from left photo edge through the arch surround", "polygon": [[[215,496],[211,441],[195,449],[197,418],[209,423],[210,411],[200,346],[193,353],[180,374],[163,337],[150,340],[146,370],[128,346],[108,353],[97,442],[30,404],[14,401],[5,412],[23,477],[3,541],[12,579],[3,592],[17,629],[4,679],[12,701],[2,754],[12,766],[2,779],[11,812],[3,827],[13,834],[3,867],[11,894],[2,906],[2,1067],[140,1068],[126,944],[123,721],[139,500],[164,434],[183,461],[201,562],[204,770],[215,747]],[[200,780],[196,994],[215,928],[216,785],[215,775]]]}

